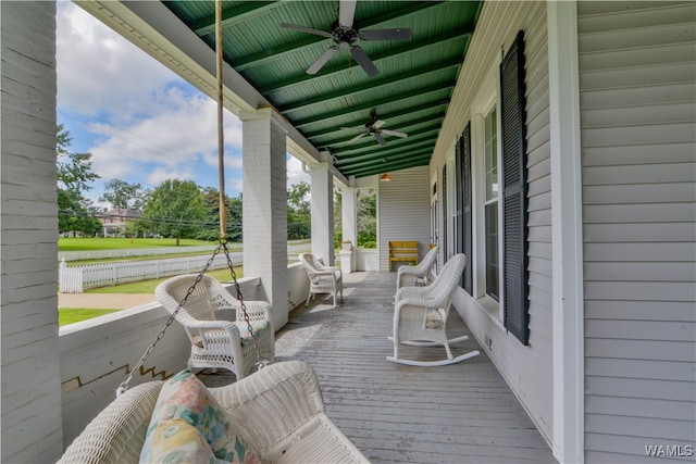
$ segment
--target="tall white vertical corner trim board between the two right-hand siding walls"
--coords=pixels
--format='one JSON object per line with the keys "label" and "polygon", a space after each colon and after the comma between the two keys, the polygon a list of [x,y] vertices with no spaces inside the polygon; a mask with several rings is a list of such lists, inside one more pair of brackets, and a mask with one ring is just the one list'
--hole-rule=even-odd
{"label": "tall white vertical corner trim board between the two right-hand siding walls", "polygon": [[554,456],[584,462],[584,300],[577,5],[547,3],[554,274]]}

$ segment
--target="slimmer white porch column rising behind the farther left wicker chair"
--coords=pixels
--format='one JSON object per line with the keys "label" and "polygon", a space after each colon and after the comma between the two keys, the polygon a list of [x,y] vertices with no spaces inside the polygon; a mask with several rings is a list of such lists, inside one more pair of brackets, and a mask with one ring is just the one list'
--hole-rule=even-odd
{"label": "slimmer white porch column rising behind the farther left wicker chair", "polygon": [[312,253],[334,265],[334,177],[328,163],[309,168],[311,178]]}

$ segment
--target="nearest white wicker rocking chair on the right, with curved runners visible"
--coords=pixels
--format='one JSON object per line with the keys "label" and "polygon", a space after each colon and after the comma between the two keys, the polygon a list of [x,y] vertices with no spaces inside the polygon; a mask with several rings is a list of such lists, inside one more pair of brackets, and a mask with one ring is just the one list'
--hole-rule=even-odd
{"label": "nearest white wicker rocking chair on the right, with curved runners visible", "polygon": [[[449,259],[435,280],[426,287],[402,287],[396,292],[394,310],[394,356],[387,361],[412,366],[443,366],[473,358],[478,351],[455,358],[450,343],[468,340],[468,336],[447,338],[447,317],[452,296],[459,284],[467,258],[459,253]],[[445,347],[447,359],[440,361],[414,361],[399,355],[399,346]]]}

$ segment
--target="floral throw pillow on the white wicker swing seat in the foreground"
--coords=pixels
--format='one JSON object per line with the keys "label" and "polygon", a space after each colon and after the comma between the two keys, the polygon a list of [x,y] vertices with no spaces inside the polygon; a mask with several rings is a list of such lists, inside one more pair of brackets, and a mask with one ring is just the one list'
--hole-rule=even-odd
{"label": "floral throw pillow on the white wicker swing seat in the foreground", "polygon": [[141,463],[258,463],[231,432],[224,409],[189,371],[167,380],[152,412]]}

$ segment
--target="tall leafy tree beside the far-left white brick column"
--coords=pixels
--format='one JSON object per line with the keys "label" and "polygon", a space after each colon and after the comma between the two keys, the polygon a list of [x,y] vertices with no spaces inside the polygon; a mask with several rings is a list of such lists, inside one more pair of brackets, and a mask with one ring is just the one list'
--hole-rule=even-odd
{"label": "tall leafy tree beside the far-left white brick column", "polygon": [[[84,191],[91,189],[90,183],[99,175],[91,171],[91,153],[71,152],[72,138],[62,124],[57,127],[55,167],[58,178],[58,229],[91,235],[96,230],[91,201]],[[97,228],[99,230],[101,224]]]}

